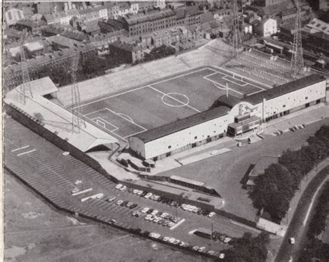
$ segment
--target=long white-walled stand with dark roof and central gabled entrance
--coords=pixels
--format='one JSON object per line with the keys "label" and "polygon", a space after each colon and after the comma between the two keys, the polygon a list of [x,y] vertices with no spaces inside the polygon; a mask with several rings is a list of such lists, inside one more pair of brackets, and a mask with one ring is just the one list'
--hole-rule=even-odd
{"label": "long white-walled stand with dark roof and central gabled entrance", "polygon": [[128,138],[130,149],[154,161],[223,138],[238,136],[296,110],[326,101],[326,79],[313,74],[243,100],[220,97],[215,107]]}

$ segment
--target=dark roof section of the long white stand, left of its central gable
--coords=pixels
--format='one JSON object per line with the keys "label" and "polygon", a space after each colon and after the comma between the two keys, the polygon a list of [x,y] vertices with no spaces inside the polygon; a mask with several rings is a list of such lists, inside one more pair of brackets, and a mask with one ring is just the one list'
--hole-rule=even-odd
{"label": "dark roof section of the long white stand, left of its central gable", "polygon": [[150,142],[152,140],[162,138],[163,136],[168,136],[171,133],[176,133],[180,130],[187,129],[191,126],[196,126],[197,124],[201,124],[203,122],[213,120],[217,117],[227,115],[228,110],[229,108],[227,108],[226,106],[219,106],[217,108],[213,108],[210,110],[203,111],[201,113],[197,113],[196,115],[190,115],[189,117],[185,117],[182,120],[171,122],[163,126],[158,126],[155,129],[144,131],[142,133],[137,134],[134,137],[140,138],[140,140],[142,140],[145,143]]}

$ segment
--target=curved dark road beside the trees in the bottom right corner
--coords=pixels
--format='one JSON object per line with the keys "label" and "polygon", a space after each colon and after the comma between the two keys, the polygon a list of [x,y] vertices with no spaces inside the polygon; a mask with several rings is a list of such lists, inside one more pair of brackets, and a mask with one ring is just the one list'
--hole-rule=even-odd
{"label": "curved dark road beside the trees in the bottom right corner", "polygon": [[[328,165],[329,165],[328,161],[323,161],[319,165],[318,170],[320,171]],[[276,256],[277,262],[289,261],[289,258],[291,256],[294,258],[294,261],[298,259],[307,232],[308,221],[306,222],[305,225],[303,224],[303,222],[307,215],[307,211],[310,207],[310,203],[312,202],[312,197],[314,196],[314,193],[317,192],[318,188],[324,185],[323,181],[328,179],[328,176],[329,176],[328,172],[319,172],[319,174],[317,174],[317,177],[314,177],[314,179],[312,179],[312,181],[305,189],[300,201],[298,202],[298,206],[296,208],[294,216],[290,221],[289,228],[287,230],[287,233],[285,234],[285,238],[283,239],[282,245]],[[295,238],[296,240],[295,245],[289,245],[289,238],[291,237]]]}

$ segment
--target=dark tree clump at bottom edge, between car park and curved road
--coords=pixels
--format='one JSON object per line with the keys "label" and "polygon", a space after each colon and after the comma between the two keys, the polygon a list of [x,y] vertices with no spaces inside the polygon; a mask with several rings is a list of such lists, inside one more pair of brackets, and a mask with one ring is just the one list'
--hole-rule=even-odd
{"label": "dark tree clump at bottom edge, between car park and curved road", "polygon": [[242,238],[233,240],[233,247],[223,250],[224,261],[230,262],[262,262],[267,260],[267,244],[269,234],[262,232],[258,236],[245,233]]}

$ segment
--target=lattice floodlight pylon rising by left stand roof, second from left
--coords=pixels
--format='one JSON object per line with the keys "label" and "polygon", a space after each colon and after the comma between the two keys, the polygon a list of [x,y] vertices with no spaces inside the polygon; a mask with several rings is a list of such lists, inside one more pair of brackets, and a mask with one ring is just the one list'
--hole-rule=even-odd
{"label": "lattice floodlight pylon rising by left stand roof, second from left", "polygon": [[81,117],[81,97],[78,88],[78,83],[76,83],[76,72],[78,71],[80,53],[77,51],[73,58],[72,64],[72,85],[71,85],[71,99],[72,99],[72,133],[77,131],[80,133],[81,125],[85,126],[85,120]]}

